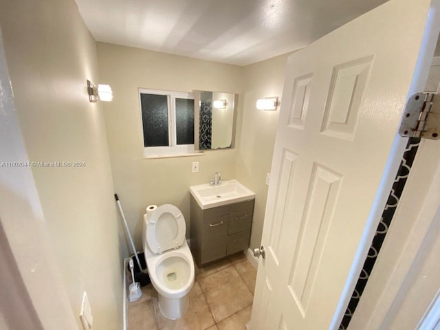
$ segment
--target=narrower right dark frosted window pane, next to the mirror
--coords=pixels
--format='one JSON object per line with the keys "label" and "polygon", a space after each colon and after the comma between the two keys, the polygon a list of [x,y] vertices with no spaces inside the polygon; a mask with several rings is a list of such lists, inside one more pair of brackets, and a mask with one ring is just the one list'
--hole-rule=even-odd
{"label": "narrower right dark frosted window pane, next to the mirror", "polygon": [[176,98],[177,144],[194,144],[194,100]]}

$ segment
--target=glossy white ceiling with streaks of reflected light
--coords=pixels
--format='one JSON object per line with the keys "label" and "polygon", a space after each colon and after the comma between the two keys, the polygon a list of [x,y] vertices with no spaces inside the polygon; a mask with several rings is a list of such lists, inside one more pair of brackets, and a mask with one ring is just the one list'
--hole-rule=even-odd
{"label": "glossy white ceiling with streaks of reflected light", "polygon": [[96,41],[248,65],[298,50],[386,0],[76,0]]}

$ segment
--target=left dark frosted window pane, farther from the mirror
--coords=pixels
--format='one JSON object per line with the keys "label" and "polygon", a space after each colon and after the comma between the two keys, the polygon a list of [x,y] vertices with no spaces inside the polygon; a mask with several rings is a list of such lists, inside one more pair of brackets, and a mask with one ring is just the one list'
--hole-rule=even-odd
{"label": "left dark frosted window pane, farther from the mirror", "polygon": [[168,97],[140,94],[144,146],[169,146]]}

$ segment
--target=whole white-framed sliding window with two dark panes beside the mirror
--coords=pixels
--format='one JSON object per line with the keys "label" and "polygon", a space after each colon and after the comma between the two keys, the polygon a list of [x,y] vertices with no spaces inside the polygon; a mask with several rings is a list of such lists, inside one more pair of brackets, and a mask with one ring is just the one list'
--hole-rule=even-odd
{"label": "whole white-framed sliding window with two dark panes beside the mirror", "polygon": [[139,89],[144,156],[195,153],[192,93]]}

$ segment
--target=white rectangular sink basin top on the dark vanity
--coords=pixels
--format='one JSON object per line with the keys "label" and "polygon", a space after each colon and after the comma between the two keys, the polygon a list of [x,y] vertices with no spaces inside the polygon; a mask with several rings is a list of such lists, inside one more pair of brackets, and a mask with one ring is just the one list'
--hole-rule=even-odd
{"label": "white rectangular sink basin top on the dark vanity", "polygon": [[190,186],[190,193],[202,210],[236,203],[237,201],[248,201],[255,197],[252,190],[235,179],[222,181],[219,186],[210,186],[209,184]]}

